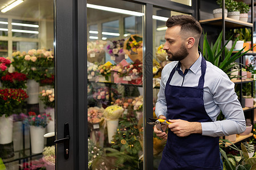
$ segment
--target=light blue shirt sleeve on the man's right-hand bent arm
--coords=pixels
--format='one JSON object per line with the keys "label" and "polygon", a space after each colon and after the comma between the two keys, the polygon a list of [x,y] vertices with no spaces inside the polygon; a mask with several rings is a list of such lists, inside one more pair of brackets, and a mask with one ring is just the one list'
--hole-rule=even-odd
{"label": "light blue shirt sleeve on the man's right-hand bent arm", "polygon": [[213,122],[201,122],[202,135],[211,137],[240,134],[246,129],[245,116],[234,91],[234,83],[226,74],[220,74],[211,91],[213,101],[224,114],[225,119]]}

